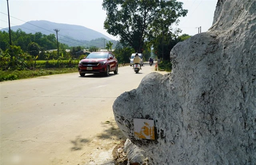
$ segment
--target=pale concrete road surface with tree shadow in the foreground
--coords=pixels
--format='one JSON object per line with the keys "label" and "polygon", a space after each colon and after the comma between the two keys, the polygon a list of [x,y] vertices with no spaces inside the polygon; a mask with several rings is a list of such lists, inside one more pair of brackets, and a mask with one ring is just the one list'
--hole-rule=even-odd
{"label": "pale concrete road surface with tree shadow in the foreground", "polygon": [[109,77],[70,73],[0,83],[1,164],[111,162],[113,147],[125,139],[113,102],[153,71],[145,63],[138,74],[127,66]]}

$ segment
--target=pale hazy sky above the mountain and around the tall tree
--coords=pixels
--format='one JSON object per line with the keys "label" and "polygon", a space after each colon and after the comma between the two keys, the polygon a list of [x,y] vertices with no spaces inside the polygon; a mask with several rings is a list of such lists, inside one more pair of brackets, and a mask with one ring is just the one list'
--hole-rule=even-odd
{"label": "pale hazy sky above the mountain and around the tall tree", "polygon": [[[182,29],[182,34],[195,35],[198,33],[199,26],[202,32],[212,26],[217,0],[178,1],[183,2],[183,8],[188,10],[187,16],[180,18],[178,28]],[[102,9],[102,2],[103,0],[8,0],[10,25],[17,26],[28,21],[47,20],[84,26],[117,39],[103,28],[106,11]],[[0,29],[2,28],[8,28],[6,0],[0,0]]]}

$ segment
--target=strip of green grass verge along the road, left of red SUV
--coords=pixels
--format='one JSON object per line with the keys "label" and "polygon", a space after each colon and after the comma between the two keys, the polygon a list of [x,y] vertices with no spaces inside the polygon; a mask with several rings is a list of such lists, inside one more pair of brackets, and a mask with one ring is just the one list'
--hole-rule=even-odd
{"label": "strip of green grass verge along the road, left of red SUV", "polygon": [[75,73],[78,72],[77,67],[73,68],[50,68],[50,69],[36,69],[25,71],[0,71],[0,82],[18,79],[28,79],[33,77],[57,75],[63,73]]}

